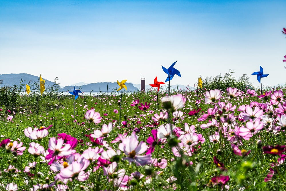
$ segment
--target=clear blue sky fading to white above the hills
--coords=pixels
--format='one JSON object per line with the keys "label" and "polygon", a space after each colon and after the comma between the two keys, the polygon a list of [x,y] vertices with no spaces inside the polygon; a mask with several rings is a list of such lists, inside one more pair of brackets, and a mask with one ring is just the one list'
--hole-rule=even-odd
{"label": "clear blue sky fading to white above the hills", "polygon": [[60,85],[165,81],[244,73],[254,86],[286,82],[286,1],[0,1],[0,74]]}

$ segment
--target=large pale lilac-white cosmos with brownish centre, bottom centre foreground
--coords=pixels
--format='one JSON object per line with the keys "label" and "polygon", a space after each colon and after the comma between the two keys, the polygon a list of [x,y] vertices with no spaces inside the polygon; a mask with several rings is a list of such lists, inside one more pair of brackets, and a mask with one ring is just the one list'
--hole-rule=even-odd
{"label": "large pale lilac-white cosmos with brownish centre, bottom centre foreground", "polygon": [[125,153],[127,157],[124,159],[127,159],[129,162],[135,162],[137,166],[149,164],[151,162],[151,154],[140,155],[148,149],[148,146],[143,141],[139,145],[138,143],[135,133],[132,133],[131,137],[123,139],[118,148]]}

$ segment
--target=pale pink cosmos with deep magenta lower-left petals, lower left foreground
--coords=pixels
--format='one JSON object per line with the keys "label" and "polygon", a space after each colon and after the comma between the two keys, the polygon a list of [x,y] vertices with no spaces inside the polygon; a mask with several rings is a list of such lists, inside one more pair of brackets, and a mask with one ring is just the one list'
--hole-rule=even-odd
{"label": "pale pink cosmos with deep magenta lower-left petals, lower left foreground", "polygon": [[45,157],[45,159],[51,159],[48,165],[52,164],[57,157],[68,156],[72,153],[72,150],[70,150],[71,145],[66,144],[63,146],[63,142],[63,139],[56,140],[55,137],[50,138],[48,149],[49,154]]}

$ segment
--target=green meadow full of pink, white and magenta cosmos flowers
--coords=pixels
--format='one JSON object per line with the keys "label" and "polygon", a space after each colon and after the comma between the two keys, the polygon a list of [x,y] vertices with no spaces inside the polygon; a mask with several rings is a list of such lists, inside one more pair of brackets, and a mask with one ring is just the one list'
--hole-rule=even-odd
{"label": "green meadow full of pink, white and magenta cosmos flowers", "polygon": [[286,190],[285,95],[21,96],[0,107],[0,190]]}

